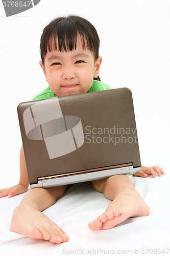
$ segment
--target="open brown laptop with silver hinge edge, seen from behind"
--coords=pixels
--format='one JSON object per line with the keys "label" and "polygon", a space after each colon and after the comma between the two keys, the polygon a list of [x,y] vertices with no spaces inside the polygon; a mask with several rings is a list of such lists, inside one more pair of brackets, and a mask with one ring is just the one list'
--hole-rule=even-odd
{"label": "open brown laptop with silver hinge edge, seen from behind", "polygon": [[17,111],[31,188],[141,170],[128,88],[23,102]]}

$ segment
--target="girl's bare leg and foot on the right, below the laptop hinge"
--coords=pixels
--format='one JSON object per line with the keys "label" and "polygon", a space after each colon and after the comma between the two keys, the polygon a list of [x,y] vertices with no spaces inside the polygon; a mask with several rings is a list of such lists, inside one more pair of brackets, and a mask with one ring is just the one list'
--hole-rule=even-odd
{"label": "girl's bare leg and foot on the right, below the laptop hinge", "polygon": [[142,217],[150,213],[149,206],[135,191],[131,180],[125,175],[115,175],[108,179],[91,181],[93,187],[104,193],[112,202],[106,211],[88,224],[89,229],[110,229],[129,217]]}

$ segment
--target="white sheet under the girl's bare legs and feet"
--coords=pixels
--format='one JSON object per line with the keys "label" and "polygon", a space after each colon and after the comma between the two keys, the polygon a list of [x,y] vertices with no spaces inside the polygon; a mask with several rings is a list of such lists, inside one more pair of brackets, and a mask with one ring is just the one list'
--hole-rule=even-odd
{"label": "white sheet under the girl's bare legs and feet", "polygon": [[102,214],[110,201],[103,194],[95,191],[89,182],[75,184],[55,205],[43,211],[69,235],[69,241],[59,245],[51,244],[49,241],[30,239],[9,231],[12,212],[24,194],[11,199],[2,198],[0,251],[3,251],[3,254],[1,255],[22,255],[23,251],[24,255],[64,255],[66,253],[66,255],[87,255],[92,252],[103,255],[104,252],[118,254],[120,251],[122,254],[131,252],[130,255],[133,255],[134,249],[138,255],[143,255],[142,249],[151,249],[150,252],[152,249],[161,249],[161,251],[168,249],[169,175],[156,178],[138,178],[131,175],[130,179],[135,189],[150,206],[149,216],[130,218],[113,229],[93,232],[88,229],[88,223]]}

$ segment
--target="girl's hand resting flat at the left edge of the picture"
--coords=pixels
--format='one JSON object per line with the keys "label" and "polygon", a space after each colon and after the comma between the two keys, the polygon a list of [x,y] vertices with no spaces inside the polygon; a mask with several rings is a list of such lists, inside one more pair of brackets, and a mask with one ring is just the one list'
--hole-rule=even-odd
{"label": "girl's hand resting flat at the left edge of the picture", "polygon": [[17,184],[13,187],[10,188],[4,188],[4,189],[0,189],[0,198],[1,197],[6,197],[8,196],[8,198],[14,197],[16,195],[25,193],[27,191],[28,187],[22,184]]}

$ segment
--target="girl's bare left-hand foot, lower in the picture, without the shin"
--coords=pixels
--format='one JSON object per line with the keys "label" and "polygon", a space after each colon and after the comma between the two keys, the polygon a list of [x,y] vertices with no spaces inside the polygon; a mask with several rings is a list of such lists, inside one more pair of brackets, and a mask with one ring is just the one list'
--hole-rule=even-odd
{"label": "girl's bare left-hand foot, lower in the picture, without the shin", "polygon": [[67,242],[69,239],[56,223],[27,204],[21,204],[14,210],[10,231],[33,239],[50,240],[57,244]]}

